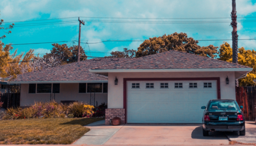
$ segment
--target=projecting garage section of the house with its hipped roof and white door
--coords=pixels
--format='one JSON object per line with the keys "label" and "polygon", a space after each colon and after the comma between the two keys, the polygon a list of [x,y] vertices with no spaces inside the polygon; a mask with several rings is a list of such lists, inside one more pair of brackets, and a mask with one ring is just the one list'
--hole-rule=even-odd
{"label": "projecting garage section of the house with its hipped roof and white door", "polygon": [[106,124],[115,116],[122,123],[201,123],[200,107],[236,99],[235,79],[252,68],[172,50],[89,71],[108,76]]}

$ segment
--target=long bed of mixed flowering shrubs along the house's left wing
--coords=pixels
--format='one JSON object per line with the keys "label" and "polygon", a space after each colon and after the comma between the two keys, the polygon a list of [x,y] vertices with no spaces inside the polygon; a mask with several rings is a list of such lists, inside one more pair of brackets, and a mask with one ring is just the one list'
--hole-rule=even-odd
{"label": "long bed of mixed flowering shrubs along the house's left wing", "polygon": [[98,109],[83,102],[58,104],[56,102],[37,102],[27,108],[8,108],[0,110],[0,120],[24,118],[57,118],[57,117],[102,117],[105,115],[106,105],[101,104]]}

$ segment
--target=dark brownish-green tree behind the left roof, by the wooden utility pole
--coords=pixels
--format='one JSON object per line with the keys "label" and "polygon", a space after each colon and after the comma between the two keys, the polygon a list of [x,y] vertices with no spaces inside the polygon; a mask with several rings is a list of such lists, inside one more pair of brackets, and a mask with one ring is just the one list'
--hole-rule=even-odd
{"label": "dark brownish-green tree behind the left roof, by the wooden utility pole", "polygon": [[[77,61],[77,50],[78,46],[74,45],[72,47],[68,47],[67,44],[58,44],[53,43],[53,48],[51,50],[51,53],[46,53],[44,55],[44,58],[48,58],[50,56],[53,56],[54,58],[60,58],[61,64],[67,64]],[[84,49],[80,47],[80,61],[86,60],[87,56],[84,52]]]}

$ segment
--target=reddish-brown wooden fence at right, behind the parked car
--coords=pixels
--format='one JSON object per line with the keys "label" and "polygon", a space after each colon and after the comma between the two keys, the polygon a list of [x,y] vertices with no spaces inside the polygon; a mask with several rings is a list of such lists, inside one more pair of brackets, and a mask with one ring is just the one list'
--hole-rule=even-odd
{"label": "reddish-brown wooden fence at right, behind the parked car", "polygon": [[236,100],[243,106],[243,113],[247,121],[255,121],[256,117],[256,87],[236,87]]}

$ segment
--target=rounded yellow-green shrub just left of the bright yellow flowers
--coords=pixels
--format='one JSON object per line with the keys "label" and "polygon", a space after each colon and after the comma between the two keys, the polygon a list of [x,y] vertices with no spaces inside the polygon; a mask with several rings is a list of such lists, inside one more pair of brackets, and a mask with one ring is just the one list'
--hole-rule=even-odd
{"label": "rounded yellow-green shrub just left of the bright yellow flowers", "polygon": [[85,104],[82,102],[73,102],[69,104],[69,113],[72,113],[74,117],[82,117],[86,112],[84,105]]}

